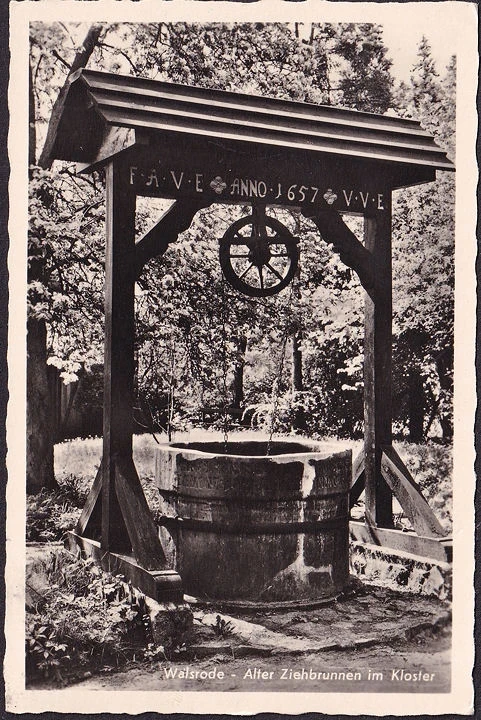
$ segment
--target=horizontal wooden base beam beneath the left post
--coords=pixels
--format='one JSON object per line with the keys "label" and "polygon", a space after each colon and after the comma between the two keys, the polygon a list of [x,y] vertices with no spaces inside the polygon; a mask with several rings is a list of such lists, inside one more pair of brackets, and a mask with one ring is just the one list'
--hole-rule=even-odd
{"label": "horizontal wooden base beam beneath the left post", "polygon": [[84,538],[75,532],[67,533],[65,546],[73,554],[95,560],[107,572],[122,575],[126,582],[157,602],[182,602],[182,579],[175,570],[146,570],[133,557],[104,552],[100,542]]}

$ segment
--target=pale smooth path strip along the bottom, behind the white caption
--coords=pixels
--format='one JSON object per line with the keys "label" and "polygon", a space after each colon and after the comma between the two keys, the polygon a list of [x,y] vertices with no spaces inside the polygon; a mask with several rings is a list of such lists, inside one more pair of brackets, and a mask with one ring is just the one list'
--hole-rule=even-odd
{"label": "pale smooth path strip along the bottom, behind the white caption", "polygon": [[[88,678],[76,687],[86,691],[449,692],[450,654],[450,639],[443,633],[437,637],[424,637],[422,642],[405,641],[394,646],[305,655],[258,657],[253,653],[236,658],[233,654],[219,653],[196,661],[179,659],[135,664],[123,672]],[[211,675],[215,672],[215,677],[179,677],[186,668],[199,674],[201,671]],[[172,674],[175,669],[177,677],[168,678],[169,672]],[[403,669],[404,676],[400,672]],[[420,680],[410,679],[420,671],[423,673]],[[323,676],[309,679],[309,674],[318,672],[327,673],[324,675],[327,679]],[[340,673],[344,673],[344,679]]]}

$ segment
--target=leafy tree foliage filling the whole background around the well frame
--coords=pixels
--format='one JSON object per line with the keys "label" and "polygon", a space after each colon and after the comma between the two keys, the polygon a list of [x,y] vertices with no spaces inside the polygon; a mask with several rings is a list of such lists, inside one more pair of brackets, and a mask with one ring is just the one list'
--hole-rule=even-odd
{"label": "leafy tree foliage filling the whole background around the well frame", "polygon": [[[39,142],[75,39],[83,32],[83,26],[73,24],[32,25]],[[421,119],[442,145],[453,149],[454,63],[440,78],[423,39],[411,85],[396,86],[378,25],[114,24],[104,27],[90,64],[361,110],[394,108]],[[49,362],[66,382],[102,363],[102,198],[101,175],[77,177],[65,164],[33,172],[29,242],[32,256],[42,258],[44,273],[31,284],[29,310],[46,320]],[[400,434],[412,425],[410,388],[416,386],[416,372],[425,396],[422,436],[439,432],[438,420],[445,438],[450,436],[453,204],[448,173],[436,184],[402,190],[395,197],[394,406]],[[165,203],[139,202],[138,232],[163,210]],[[295,292],[290,297],[286,290],[265,301],[239,296],[222,281],[217,243],[245,212],[218,205],[200,211],[167,253],[144,269],[136,287],[137,427],[182,430],[199,423],[205,407],[239,403],[252,408],[261,424],[263,417],[265,425],[275,384],[279,430],[296,427],[301,413],[313,435],[359,436],[363,308],[356,276],[307,220],[291,211],[269,210],[301,238]],[[352,224],[359,234],[359,223]],[[286,332],[286,359],[279,373]],[[292,380],[296,362],[301,364],[299,387]]]}

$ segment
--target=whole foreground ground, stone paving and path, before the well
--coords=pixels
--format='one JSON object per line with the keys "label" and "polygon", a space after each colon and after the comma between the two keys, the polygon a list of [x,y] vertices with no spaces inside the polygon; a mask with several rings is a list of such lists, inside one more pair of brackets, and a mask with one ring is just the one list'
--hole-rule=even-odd
{"label": "whole foreground ground, stone paving and path, before the well", "polygon": [[222,634],[216,630],[213,610],[195,608],[190,643],[168,660],[100,672],[75,687],[86,691],[450,690],[450,613],[437,598],[361,586],[317,609],[221,614],[227,623]]}

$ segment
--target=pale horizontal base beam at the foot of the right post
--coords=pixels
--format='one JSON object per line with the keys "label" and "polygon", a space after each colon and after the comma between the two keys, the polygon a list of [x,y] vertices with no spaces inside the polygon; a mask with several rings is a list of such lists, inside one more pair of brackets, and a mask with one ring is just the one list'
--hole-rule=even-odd
{"label": "pale horizontal base beam at the foot of the right post", "polygon": [[420,537],[402,530],[371,527],[356,520],[350,521],[349,534],[351,540],[379,545],[386,550],[406,552],[423,559],[452,562],[452,540],[448,537],[442,539]]}

